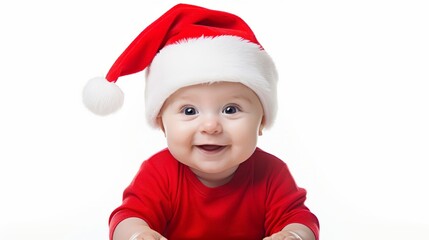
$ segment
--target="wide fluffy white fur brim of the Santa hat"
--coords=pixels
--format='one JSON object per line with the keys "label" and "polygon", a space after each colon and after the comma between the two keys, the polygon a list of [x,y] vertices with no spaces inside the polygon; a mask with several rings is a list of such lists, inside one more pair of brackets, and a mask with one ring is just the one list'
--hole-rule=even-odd
{"label": "wide fluffy white fur brim of the Santa hat", "polygon": [[277,105],[276,81],[274,64],[258,44],[237,36],[187,39],[161,49],[150,64],[146,72],[146,117],[157,127],[155,119],[163,103],[183,87],[235,82],[256,93],[266,124],[271,125]]}

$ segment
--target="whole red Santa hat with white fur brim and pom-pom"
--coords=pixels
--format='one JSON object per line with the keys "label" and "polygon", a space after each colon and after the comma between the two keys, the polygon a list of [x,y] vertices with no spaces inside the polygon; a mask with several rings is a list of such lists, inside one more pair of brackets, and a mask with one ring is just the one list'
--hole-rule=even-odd
{"label": "whole red Santa hat with white fur brim and pom-pom", "polygon": [[115,61],[106,78],[91,79],[83,102],[98,115],[123,104],[119,77],[146,71],[148,122],[178,89],[201,83],[239,82],[259,97],[270,127],[277,111],[277,71],[250,27],[231,13],[178,4],[150,24]]}

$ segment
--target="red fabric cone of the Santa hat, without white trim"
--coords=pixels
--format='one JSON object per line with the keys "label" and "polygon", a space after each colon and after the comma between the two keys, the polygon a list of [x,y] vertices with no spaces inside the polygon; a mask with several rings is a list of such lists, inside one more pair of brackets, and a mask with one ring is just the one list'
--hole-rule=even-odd
{"label": "red fabric cone of the Santa hat, without white trim", "polygon": [[259,44],[238,16],[189,4],[177,4],[145,28],[125,49],[106,75],[109,82],[144,70],[164,46],[179,40],[232,35]]}

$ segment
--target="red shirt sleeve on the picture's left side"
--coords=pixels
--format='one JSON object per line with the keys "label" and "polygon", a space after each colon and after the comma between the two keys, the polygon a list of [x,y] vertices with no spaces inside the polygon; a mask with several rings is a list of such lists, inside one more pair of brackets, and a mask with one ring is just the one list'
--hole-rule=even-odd
{"label": "red shirt sleeve on the picture's left side", "polygon": [[122,204],[110,215],[110,239],[116,226],[130,217],[143,219],[157,232],[164,231],[172,211],[168,173],[160,167],[161,164],[157,159],[143,162],[131,184],[124,190]]}

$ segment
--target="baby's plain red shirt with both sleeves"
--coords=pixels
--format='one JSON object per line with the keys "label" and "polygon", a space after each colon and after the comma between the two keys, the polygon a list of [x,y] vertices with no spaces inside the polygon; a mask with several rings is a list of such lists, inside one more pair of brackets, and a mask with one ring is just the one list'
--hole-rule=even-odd
{"label": "baby's plain red shirt with both sleeves", "polygon": [[220,187],[204,186],[189,167],[166,149],[143,162],[109,219],[110,238],[129,217],[174,239],[262,239],[289,223],[302,223],[319,235],[316,216],[304,205],[286,164],[260,149]]}

